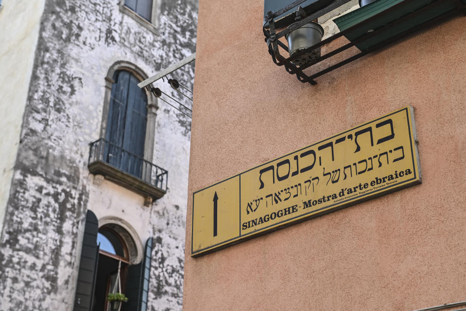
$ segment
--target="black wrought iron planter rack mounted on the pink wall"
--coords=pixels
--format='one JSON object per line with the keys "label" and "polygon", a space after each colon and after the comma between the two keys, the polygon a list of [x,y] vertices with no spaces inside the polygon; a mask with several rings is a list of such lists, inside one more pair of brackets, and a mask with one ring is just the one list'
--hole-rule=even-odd
{"label": "black wrought iron planter rack mounted on the pink wall", "polygon": [[[369,53],[372,53],[376,50],[379,50],[381,48],[383,48],[384,46],[388,45],[388,44],[391,44],[403,37],[406,37],[408,35],[411,35],[419,30],[422,30],[422,29],[425,29],[427,27],[430,27],[431,25],[435,25],[435,24],[438,24],[442,21],[445,21],[449,18],[451,18],[452,16],[454,15],[457,15],[457,14],[464,14],[466,15],[466,5],[465,3],[463,3],[461,0],[436,0],[436,1],[433,1],[431,2],[430,4],[422,7],[421,9],[417,10],[417,11],[414,11],[412,13],[409,13],[401,18],[398,18],[390,23],[387,23],[386,25],[378,28],[378,29],[375,29],[375,30],[371,30],[370,32],[368,31],[366,34],[362,35],[361,37],[355,39],[355,40],[352,40],[351,42],[349,43],[346,43],[346,44],[341,44],[341,46],[339,46],[338,48],[330,51],[330,52],[327,52],[326,54],[324,55],[321,55],[320,57],[318,57],[317,59],[305,64],[305,65],[302,65],[302,66],[296,66],[295,64],[293,64],[293,59],[296,59],[306,53],[309,53],[311,51],[313,51],[314,49],[317,49],[319,47],[322,47],[326,44],[329,44],[331,43],[332,41],[342,37],[342,36],[345,36],[349,33],[351,33],[352,31],[358,29],[358,28],[361,28],[362,26],[364,25],[369,25],[371,22],[374,22],[376,20],[378,20],[379,18],[383,18],[385,15],[387,14],[390,14],[390,13],[393,13],[395,12],[397,9],[399,9],[399,7],[401,7],[402,5],[406,4],[406,3],[411,3],[411,2],[415,2],[417,0],[404,0],[390,8],[387,8],[386,10],[380,12],[379,14],[376,14],[370,18],[367,18],[365,20],[363,20],[362,22],[356,24],[356,25],[353,25],[343,31],[340,31],[339,33],[335,34],[335,35],[332,35],[326,39],[323,39],[321,42],[317,43],[317,44],[314,44],[313,46],[303,50],[303,51],[300,51],[299,53],[296,53],[295,55],[293,56],[288,56],[288,57],[285,57],[283,56],[280,52],[281,51],[284,51],[286,52],[287,54],[289,53],[289,50],[288,50],[288,47],[283,43],[281,42],[279,39],[282,38],[282,37],[285,37],[286,35],[288,35],[289,33],[291,33],[293,30],[296,30],[298,29],[299,27],[317,19],[317,18],[320,18],[322,16],[324,16],[325,14],[333,11],[334,9],[337,9],[338,7],[344,5],[345,3],[349,2],[350,0],[318,0],[316,2],[314,2],[312,4],[312,7],[314,8],[312,12],[308,13],[307,16],[304,14],[303,10],[299,7],[299,5],[301,3],[303,3],[305,0],[296,0],[294,1],[293,3],[285,6],[284,8],[276,11],[276,12],[268,12],[267,13],[267,16],[264,18],[264,22],[263,22],[263,25],[262,25],[262,31],[264,33],[264,36],[265,36],[265,41],[266,41],[266,44],[267,44],[267,47],[268,47],[268,52],[269,54],[271,55],[272,57],[272,60],[273,62],[278,65],[278,66],[283,66],[286,70],[287,73],[290,73],[290,74],[295,74],[297,79],[302,82],[302,83],[310,83],[311,85],[315,85],[317,84],[317,82],[315,81],[315,78],[325,74],[325,73],[329,73],[337,68],[340,68],[342,66],[344,66],[345,64],[347,63],[350,63],[364,55],[367,55]],[[397,36],[395,37],[392,37],[392,38],[389,38],[389,39],[386,39],[366,50],[362,50],[360,51],[360,53],[357,53],[355,55],[352,55],[352,56],[349,56],[339,62],[337,62],[336,64],[333,64],[333,65],[328,65],[326,64],[324,67],[324,69],[321,69],[319,70],[318,72],[316,73],[312,73],[311,75],[308,75],[306,73],[303,72],[303,70],[307,69],[307,68],[310,68],[318,63],[321,63],[322,61],[328,59],[329,57],[332,57],[334,55],[337,55],[337,54],[340,54],[342,53],[343,51],[345,50],[348,50],[350,48],[352,48],[353,46],[355,46],[356,44],[358,43],[361,43],[363,41],[366,41],[372,37],[376,37],[378,35],[380,35],[383,31],[386,31],[387,29],[389,29],[390,27],[394,27],[394,26],[397,26],[399,25],[400,23],[402,22],[405,22],[411,18],[415,18],[416,16],[419,16],[420,14],[423,14],[425,12],[427,12],[428,10],[432,10],[432,9],[435,9],[436,7],[438,7],[439,5],[441,4],[444,4],[446,1],[448,2],[452,2],[454,5],[455,5],[455,9],[453,10],[450,10],[446,13],[443,13],[442,15],[439,15],[435,18],[432,18],[426,22],[423,22],[413,28],[410,28],[408,30],[405,30],[401,33],[399,33]],[[296,16],[298,17],[297,19],[300,19],[298,22],[294,22],[293,20],[293,24],[290,25],[288,28],[285,28],[284,30],[280,31],[277,33],[277,24],[278,26],[281,28],[283,25],[279,25],[280,22],[283,23],[283,19],[281,19],[281,21],[279,20],[276,20],[276,18],[282,16],[284,13],[286,12],[289,12],[289,11],[292,11],[294,8],[295,9],[295,13],[296,13]],[[293,11],[291,12],[291,14],[293,14]]]}

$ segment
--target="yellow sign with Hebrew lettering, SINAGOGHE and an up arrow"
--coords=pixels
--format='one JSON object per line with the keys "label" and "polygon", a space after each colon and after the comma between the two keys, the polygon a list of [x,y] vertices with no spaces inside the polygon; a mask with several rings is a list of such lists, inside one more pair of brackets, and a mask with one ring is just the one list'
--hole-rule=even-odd
{"label": "yellow sign with Hebrew lettering, SINAGOGHE and an up arrow", "polygon": [[421,182],[413,108],[193,194],[191,256]]}

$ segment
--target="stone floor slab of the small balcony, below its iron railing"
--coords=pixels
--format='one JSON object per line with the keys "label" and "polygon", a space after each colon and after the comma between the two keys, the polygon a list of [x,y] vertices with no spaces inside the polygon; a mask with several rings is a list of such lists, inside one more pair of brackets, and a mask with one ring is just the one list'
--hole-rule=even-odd
{"label": "stone floor slab of the small balcony, below its iron railing", "polygon": [[160,199],[165,195],[165,193],[167,193],[166,191],[150,183],[146,183],[141,179],[101,160],[89,163],[87,167],[89,172],[92,174],[103,175],[105,178],[114,183],[117,183],[143,196],[149,196],[154,200]]}

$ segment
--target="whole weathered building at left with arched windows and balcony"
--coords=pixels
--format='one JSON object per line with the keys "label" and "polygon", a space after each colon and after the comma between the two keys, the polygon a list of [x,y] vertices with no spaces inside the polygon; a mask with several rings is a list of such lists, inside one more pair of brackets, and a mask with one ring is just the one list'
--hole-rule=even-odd
{"label": "whole weathered building at left with arched windows and balcony", "polygon": [[122,310],[181,309],[190,118],[136,84],[194,53],[197,7],[1,1],[0,310],[104,310],[119,262]]}

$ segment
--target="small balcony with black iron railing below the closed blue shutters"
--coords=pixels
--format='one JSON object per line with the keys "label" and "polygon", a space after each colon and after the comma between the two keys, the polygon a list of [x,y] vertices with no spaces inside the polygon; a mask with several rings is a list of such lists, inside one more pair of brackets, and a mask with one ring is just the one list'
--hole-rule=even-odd
{"label": "small balcony with black iron railing below the closed blue shutters", "polygon": [[167,192],[168,171],[101,138],[89,144],[92,174],[105,178],[153,199]]}

